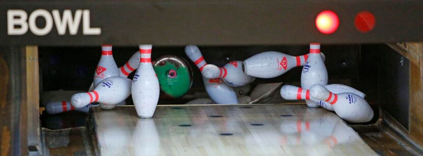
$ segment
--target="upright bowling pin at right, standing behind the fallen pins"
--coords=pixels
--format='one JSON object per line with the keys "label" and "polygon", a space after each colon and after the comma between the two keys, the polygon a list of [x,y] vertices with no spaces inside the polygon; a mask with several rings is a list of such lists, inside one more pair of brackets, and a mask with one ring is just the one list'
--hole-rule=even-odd
{"label": "upright bowling pin at right, standing behind the fallen pins", "polygon": [[[310,43],[310,53],[301,72],[301,87],[309,89],[313,84],[328,84],[328,71],[321,57],[320,44]],[[319,107],[319,104],[306,100],[308,107]]]}

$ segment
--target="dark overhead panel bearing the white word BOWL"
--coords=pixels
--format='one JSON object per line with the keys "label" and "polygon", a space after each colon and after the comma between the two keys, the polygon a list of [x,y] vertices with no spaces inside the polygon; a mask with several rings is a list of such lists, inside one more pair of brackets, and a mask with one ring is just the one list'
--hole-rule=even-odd
{"label": "dark overhead panel bearing the white word BOWL", "polygon": [[[423,1],[36,1],[0,3],[1,45],[257,45],[306,44],[322,42],[384,43],[421,41]],[[101,35],[83,34],[81,21],[77,35],[58,35],[54,24],[50,33],[36,36],[7,35],[7,10],[36,9],[90,10],[91,27]],[[332,35],[315,28],[315,17],[322,10],[333,10],[340,18]],[[374,30],[367,34],[355,29],[354,17],[360,11],[376,17]],[[45,22],[38,18],[38,26]],[[68,31],[68,30],[67,30]]]}

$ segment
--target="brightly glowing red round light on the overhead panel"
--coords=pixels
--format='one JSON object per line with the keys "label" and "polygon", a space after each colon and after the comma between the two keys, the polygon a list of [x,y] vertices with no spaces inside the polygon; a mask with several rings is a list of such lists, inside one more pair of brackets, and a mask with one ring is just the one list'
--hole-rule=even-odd
{"label": "brightly glowing red round light on the overhead panel", "polygon": [[323,34],[332,34],[338,29],[339,18],[333,11],[325,10],[316,17],[316,27]]}

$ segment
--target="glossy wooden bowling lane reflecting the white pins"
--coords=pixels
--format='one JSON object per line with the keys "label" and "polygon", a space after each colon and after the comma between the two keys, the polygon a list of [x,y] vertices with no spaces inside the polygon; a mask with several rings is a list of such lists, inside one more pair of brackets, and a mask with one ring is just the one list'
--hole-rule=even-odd
{"label": "glossy wooden bowling lane reflecting the white pins", "polygon": [[101,155],[377,155],[336,114],[297,105],[92,108]]}

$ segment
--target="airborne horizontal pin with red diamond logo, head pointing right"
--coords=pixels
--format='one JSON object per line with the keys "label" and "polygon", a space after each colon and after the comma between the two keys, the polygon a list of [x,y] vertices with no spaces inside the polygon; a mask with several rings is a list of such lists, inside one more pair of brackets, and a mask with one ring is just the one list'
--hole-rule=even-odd
{"label": "airborne horizontal pin with red diamond logo, head pointing right", "polygon": [[[322,57],[325,57],[322,53]],[[261,52],[243,61],[245,74],[258,78],[278,77],[294,67],[304,66],[308,54],[291,56],[277,51]]]}

